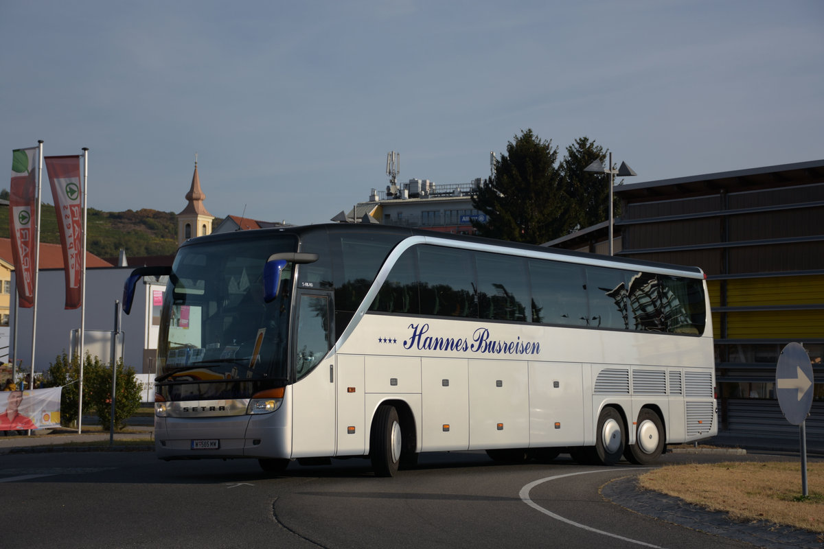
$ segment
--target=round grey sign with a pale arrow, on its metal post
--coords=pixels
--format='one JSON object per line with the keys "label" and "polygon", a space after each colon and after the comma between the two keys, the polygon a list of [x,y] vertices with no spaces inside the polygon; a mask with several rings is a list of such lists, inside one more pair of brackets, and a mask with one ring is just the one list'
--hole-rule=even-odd
{"label": "round grey sign with a pale arrow, on its metal post", "polygon": [[775,366],[775,393],[784,417],[799,426],[801,445],[801,484],[807,490],[807,416],[812,406],[812,364],[801,343],[788,343]]}

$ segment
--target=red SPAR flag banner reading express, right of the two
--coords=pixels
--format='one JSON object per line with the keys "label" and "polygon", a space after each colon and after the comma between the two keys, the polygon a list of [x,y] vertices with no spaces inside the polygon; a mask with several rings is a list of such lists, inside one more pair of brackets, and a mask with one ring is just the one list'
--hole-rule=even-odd
{"label": "red SPAR flag banner reading express, right of the two", "polygon": [[82,290],[82,184],[80,156],[46,156],[46,171],[54,198],[63,244],[63,267],[66,273],[66,309],[80,306]]}

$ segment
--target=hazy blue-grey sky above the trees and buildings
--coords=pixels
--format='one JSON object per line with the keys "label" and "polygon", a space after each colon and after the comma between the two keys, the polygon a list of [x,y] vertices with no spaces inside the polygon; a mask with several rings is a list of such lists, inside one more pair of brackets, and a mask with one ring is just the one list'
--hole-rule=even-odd
{"label": "hazy blue-grey sky above the trees and buildings", "polygon": [[89,147],[101,210],[180,212],[197,152],[213,215],[324,222],[389,151],[467,183],[527,128],[627,183],[824,158],[818,0],[0,0],[0,44],[9,172]]}

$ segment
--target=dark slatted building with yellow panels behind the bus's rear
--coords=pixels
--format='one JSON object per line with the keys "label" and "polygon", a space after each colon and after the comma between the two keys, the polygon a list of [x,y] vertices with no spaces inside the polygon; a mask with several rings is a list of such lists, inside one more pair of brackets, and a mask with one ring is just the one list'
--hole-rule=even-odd
{"label": "dark slatted building with yellow panels behind the bus's rear", "polygon": [[[798,436],[775,398],[775,365],[787,343],[802,342],[817,382],[807,434],[824,439],[824,160],[615,193],[616,254],[706,273],[722,430]],[[582,241],[555,245],[581,249]]]}

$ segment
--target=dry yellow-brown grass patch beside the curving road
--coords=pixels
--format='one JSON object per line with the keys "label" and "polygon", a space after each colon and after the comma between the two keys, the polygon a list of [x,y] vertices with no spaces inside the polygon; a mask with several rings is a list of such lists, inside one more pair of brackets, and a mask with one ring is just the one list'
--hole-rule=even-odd
{"label": "dry yellow-brown grass patch beside the curving road", "polygon": [[807,497],[800,462],[672,465],[642,475],[639,486],[735,520],[766,520],[824,534],[824,463],[807,465]]}

